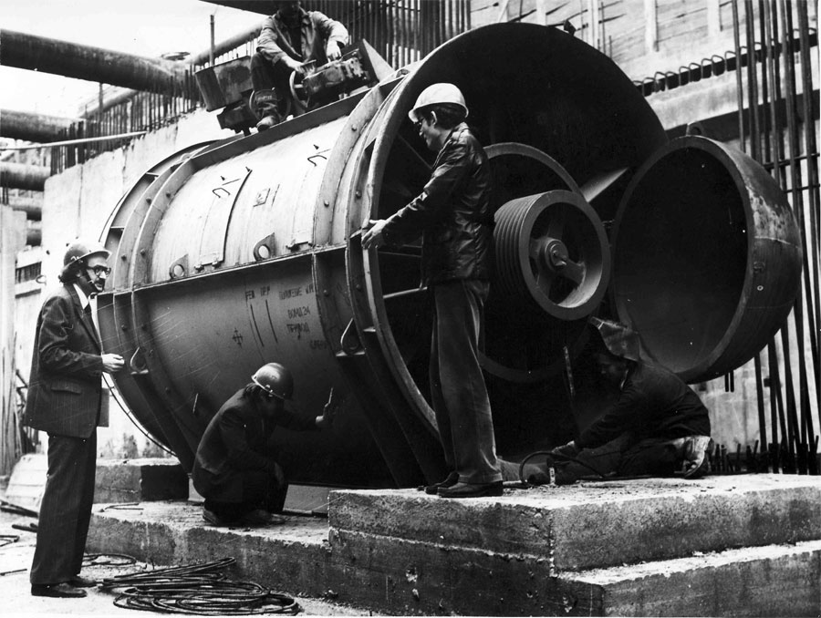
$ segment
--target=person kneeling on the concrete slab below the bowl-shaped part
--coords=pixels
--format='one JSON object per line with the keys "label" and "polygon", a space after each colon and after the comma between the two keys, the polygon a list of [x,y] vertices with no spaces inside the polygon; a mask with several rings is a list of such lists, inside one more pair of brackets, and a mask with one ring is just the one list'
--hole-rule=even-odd
{"label": "person kneeling on the concrete slab below the bowl-shaped part", "polygon": [[[668,369],[641,360],[635,331],[595,317],[589,322],[598,332],[593,355],[618,400],[580,438],[553,450],[556,484],[585,476],[706,474],[710,416],[698,395]],[[533,480],[546,482],[546,470]]]}

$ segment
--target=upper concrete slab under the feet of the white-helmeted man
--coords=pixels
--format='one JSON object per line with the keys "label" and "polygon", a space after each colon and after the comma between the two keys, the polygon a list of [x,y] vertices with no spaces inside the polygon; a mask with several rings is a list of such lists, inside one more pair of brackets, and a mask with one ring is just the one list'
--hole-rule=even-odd
{"label": "upper concrete slab under the feet of the white-helmeted man", "polygon": [[330,501],[341,537],[366,532],[549,559],[561,571],[821,538],[821,477],[606,481],[473,500],[340,490]]}

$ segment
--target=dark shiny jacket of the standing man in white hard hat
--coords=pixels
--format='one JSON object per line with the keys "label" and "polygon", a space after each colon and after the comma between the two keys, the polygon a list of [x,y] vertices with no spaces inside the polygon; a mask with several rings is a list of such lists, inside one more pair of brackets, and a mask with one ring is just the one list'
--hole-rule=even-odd
{"label": "dark shiny jacket of the standing man in white hard hat", "polygon": [[487,155],[465,123],[453,128],[419,197],[394,213],[388,242],[422,236],[422,279],[490,279],[493,261],[491,172]]}

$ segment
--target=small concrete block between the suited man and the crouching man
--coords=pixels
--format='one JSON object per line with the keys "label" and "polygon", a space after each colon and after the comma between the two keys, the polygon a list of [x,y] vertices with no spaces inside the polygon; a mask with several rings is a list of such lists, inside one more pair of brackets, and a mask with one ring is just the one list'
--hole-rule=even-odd
{"label": "small concrete block between the suited man and the crouching man", "polygon": [[176,459],[100,459],[96,503],[187,500],[188,475]]}

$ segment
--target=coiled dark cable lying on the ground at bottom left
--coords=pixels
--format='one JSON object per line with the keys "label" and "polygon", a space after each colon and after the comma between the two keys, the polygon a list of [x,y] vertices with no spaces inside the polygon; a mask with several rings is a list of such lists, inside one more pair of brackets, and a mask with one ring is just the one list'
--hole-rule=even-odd
{"label": "coiled dark cable lying on the ground at bottom left", "polygon": [[117,607],[160,613],[249,615],[302,611],[299,603],[255,582],[234,582],[219,571],[234,558],[126,573],[104,579],[101,589],[124,588]]}

